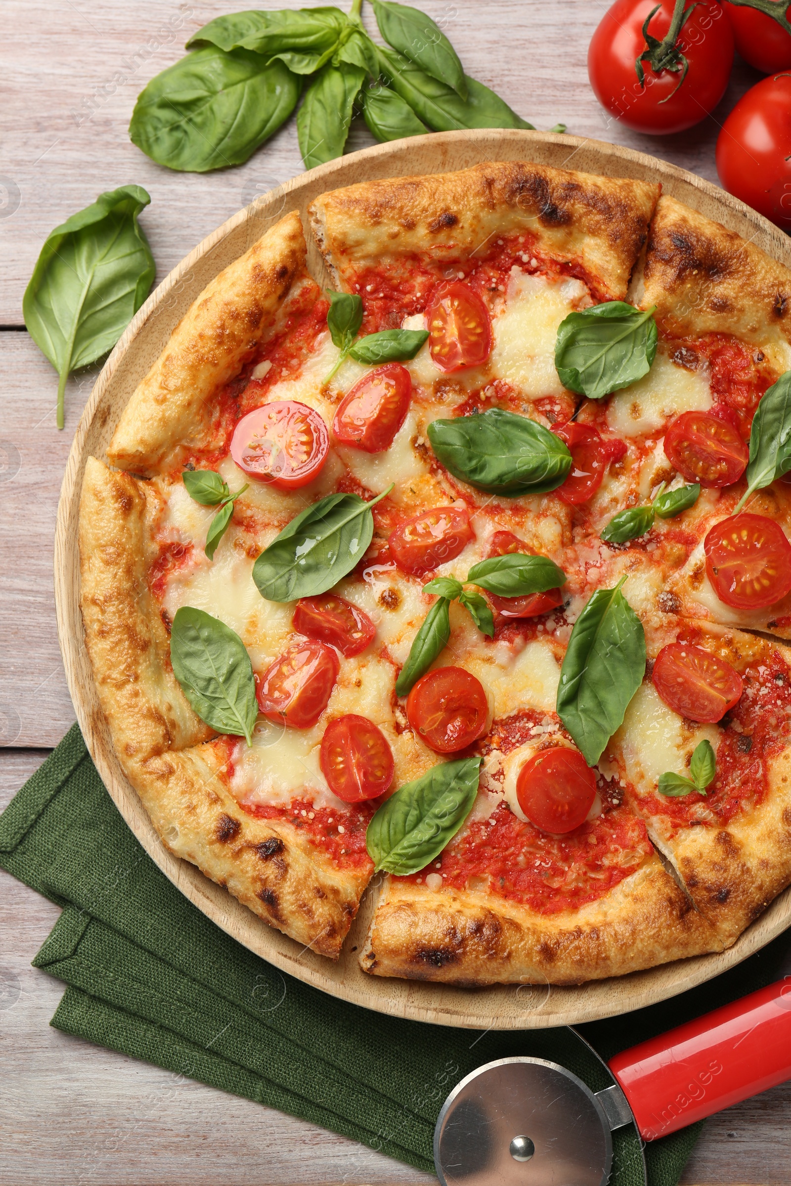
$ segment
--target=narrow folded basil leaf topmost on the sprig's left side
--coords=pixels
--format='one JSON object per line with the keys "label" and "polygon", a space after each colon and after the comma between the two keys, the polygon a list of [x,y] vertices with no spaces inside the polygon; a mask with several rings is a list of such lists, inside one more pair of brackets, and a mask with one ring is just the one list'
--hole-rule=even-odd
{"label": "narrow folded basil leaf topmost on the sprig's left side", "polygon": [[221,50],[254,50],[264,55],[282,50],[326,50],[334,45],[346,25],[346,15],[340,8],[234,12],[210,20],[186,45],[189,50],[217,45]]}

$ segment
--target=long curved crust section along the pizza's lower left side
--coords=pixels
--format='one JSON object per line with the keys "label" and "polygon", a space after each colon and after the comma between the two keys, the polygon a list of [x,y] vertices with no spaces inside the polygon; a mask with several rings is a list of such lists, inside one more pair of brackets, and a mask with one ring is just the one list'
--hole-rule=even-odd
{"label": "long curved crust section along the pizza's lower left side", "polygon": [[370,876],[337,869],[288,823],[242,811],[212,731],[170,665],[147,572],[146,487],[90,458],[79,506],[85,645],[113,745],[166,848],[227,886],[273,926],[338,957]]}

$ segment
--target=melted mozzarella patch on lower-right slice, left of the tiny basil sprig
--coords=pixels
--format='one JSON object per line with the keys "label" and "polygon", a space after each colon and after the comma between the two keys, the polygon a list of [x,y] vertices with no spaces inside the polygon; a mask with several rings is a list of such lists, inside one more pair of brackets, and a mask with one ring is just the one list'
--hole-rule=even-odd
{"label": "melted mozzarella patch on lower-right slice, left of the tiny basil sprig", "polygon": [[693,726],[684,721],[659,699],[653,684],[645,681],[634,693],[615,734],[626,776],[638,792],[655,791],[665,771],[689,777],[689,759],[703,740],[710,741],[716,751],[720,744],[716,725]]}

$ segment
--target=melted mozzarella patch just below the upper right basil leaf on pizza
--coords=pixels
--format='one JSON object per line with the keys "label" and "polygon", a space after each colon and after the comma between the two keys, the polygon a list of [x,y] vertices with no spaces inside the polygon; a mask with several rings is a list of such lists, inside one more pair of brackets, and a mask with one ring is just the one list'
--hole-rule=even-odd
{"label": "melted mozzarella patch just below the upper right basil leaf on pizza", "polygon": [[619,436],[638,436],[664,431],[668,420],[682,412],[707,412],[710,407],[707,369],[688,371],[657,351],[648,375],[611,396],[607,427]]}

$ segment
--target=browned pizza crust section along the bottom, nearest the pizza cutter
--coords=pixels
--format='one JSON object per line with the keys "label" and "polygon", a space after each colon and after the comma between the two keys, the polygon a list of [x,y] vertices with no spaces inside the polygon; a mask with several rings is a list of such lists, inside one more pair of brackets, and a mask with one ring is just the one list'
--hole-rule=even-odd
{"label": "browned pizza crust section along the bottom, nearest the pizza cutter", "polygon": [[721,949],[653,854],[602,898],[559,914],[390,878],[359,962],[375,976],[468,987],[579,984]]}

